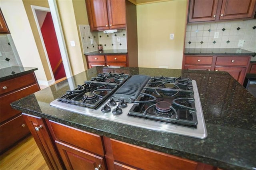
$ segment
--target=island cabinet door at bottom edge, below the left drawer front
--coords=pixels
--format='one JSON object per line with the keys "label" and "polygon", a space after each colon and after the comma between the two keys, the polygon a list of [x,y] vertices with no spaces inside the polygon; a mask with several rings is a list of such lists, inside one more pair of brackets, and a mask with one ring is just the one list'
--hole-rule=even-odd
{"label": "island cabinet door at bottom edge, below the left drawer front", "polygon": [[100,170],[106,169],[106,163],[103,157],[75,148],[68,144],[55,141],[60,152],[62,160],[68,170]]}

